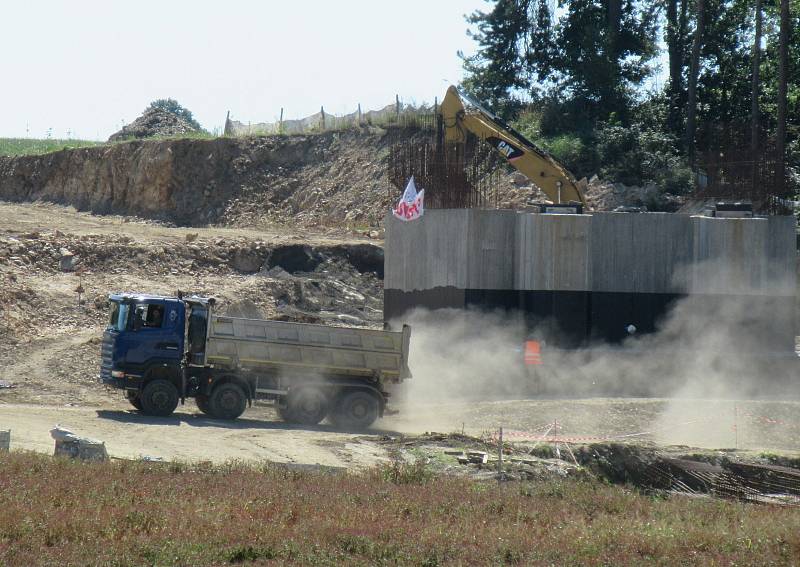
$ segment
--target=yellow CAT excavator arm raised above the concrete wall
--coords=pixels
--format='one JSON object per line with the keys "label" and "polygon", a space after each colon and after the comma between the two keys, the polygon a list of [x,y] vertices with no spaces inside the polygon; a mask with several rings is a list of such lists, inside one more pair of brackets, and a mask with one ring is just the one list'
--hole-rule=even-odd
{"label": "yellow CAT excavator arm raised above the concrete wall", "polygon": [[491,144],[553,203],[579,202],[586,206],[586,197],[575,177],[563,165],[456,87],[447,89],[439,115],[444,124],[445,143],[463,144],[467,133],[472,132]]}

